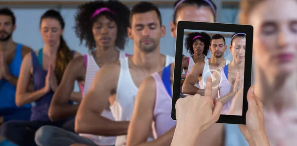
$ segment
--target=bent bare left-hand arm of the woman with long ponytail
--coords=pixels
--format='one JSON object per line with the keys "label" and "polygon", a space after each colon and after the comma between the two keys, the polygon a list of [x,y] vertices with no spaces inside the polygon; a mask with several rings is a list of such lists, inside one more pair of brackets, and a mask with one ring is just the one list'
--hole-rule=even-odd
{"label": "bent bare left-hand arm of the woman with long ponytail", "polygon": [[17,106],[22,106],[27,103],[36,101],[49,92],[49,85],[35,92],[27,92],[27,86],[30,81],[30,70],[32,68],[31,54],[27,54],[22,62],[20,76],[17,82],[15,103]]}

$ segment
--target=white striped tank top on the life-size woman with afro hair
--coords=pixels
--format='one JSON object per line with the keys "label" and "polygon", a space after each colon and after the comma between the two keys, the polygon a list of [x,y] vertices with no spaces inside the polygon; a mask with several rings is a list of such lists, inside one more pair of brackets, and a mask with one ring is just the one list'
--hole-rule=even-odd
{"label": "white striped tank top on the life-size woman with afro hair", "polygon": [[[119,50],[119,60],[126,57],[126,53],[122,50]],[[93,55],[91,53],[87,53],[87,66],[86,66],[86,77],[85,84],[83,89],[83,97],[89,92],[91,86],[93,84],[96,73],[99,71],[99,66],[97,65]],[[110,110],[104,109],[101,116],[108,118],[114,121],[114,117]],[[91,139],[98,146],[112,146],[115,144],[116,137],[103,137],[91,134],[79,134],[80,136],[87,137]]]}

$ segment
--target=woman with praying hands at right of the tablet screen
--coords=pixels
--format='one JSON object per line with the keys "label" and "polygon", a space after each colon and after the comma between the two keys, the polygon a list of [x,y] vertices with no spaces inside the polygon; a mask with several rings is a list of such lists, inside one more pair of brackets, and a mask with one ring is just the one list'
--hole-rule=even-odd
{"label": "woman with praying hands at right of the tablet screen", "polygon": [[230,111],[234,95],[244,87],[246,34],[235,33],[232,35],[230,51],[233,56],[230,64],[213,73],[213,78],[216,80],[213,80],[212,83],[212,97],[218,98],[223,103],[221,114],[227,114]]}

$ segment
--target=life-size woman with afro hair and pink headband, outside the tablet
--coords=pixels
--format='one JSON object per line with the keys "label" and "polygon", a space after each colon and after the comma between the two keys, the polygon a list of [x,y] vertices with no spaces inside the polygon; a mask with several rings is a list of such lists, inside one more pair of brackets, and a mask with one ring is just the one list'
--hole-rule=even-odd
{"label": "life-size woman with afro hair and pink headband, outside the tablet", "polygon": [[[68,65],[49,107],[49,117],[52,121],[76,115],[80,104],[66,104],[70,99],[75,81],[84,84],[81,86],[82,97],[84,97],[102,66],[127,56],[123,49],[127,41],[129,15],[129,8],[118,0],[96,0],[78,7],[75,32],[81,43],[85,41],[90,51],[72,60]],[[109,105],[106,105],[102,116],[114,120]],[[113,146],[116,137],[77,135],[58,127],[44,126],[37,131],[35,140],[39,146],[70,146],[76,143],[89,146]]]}

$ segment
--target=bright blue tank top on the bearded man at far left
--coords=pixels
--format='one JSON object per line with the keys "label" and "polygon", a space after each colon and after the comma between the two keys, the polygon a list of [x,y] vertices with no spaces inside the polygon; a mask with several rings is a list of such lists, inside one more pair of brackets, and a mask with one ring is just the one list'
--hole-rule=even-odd
{"label": "bright blue tank top on the bearded man at far left", "polygon": [[[17,44],[12,62],[8,65],[9,72],[14,77],[19,77],[20,68],[23,61],[22,44]],[[16,87],[5,79],[0,80],[0,109],[19,108],[15,104]],[[20,108],[31,108],[31,104],[25,104]]]}

